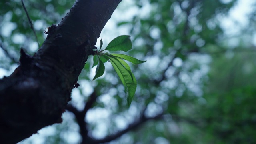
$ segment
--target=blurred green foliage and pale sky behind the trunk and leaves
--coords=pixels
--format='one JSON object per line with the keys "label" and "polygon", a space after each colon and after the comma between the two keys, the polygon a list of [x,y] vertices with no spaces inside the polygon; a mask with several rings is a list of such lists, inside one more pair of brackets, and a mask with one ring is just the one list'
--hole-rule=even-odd
{"label": "blurred green foliage and pale sky behind the trunk and leaves", "polygon": [[[33,54],[45,28],[58,24],[74,0],[24,0],[38,42],[20,0],[0,0],[0,75],[16,68],[19,50]],[[104,138],[142,116],[147,121],[110,144],[256,143],[256,2],[250,0],[123,0],[102,31],[103,47],[128,34],[128,52],[146,63],[130,65],[138,82],[127,108],[124,87],[110,63],[95,81],[92,57],[72,92],[84,108],[90,136]],[[40,30],[41,29],[41,30]],[[99,47],[99,41],[96,44]],[[154,116],[160,116],[154,118]],[[72,112],[20,144],[78,144]],[[152,118],[151,120],[149,120]]]}

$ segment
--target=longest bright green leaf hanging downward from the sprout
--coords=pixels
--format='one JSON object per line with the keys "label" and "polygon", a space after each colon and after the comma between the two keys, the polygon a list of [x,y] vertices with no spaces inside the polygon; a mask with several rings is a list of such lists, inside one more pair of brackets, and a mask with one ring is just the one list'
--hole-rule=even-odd
{"label": "longest bright green leaf hanging downward from the sprout", "polygon": [[109,57],[109,58],[113,68],[116,70],[116,73],[118,74],[122,83],[124,84],[124,87],[127,92],[127,103],[128,103],[128,106],[130,106],[132,103],[132,98],[134,97],[134,94],[137,88],[136,78],[131,73],[131,71],[128,70],[122,64],[122,62],[120,62],[117,58],[114,58],[114,57]]}

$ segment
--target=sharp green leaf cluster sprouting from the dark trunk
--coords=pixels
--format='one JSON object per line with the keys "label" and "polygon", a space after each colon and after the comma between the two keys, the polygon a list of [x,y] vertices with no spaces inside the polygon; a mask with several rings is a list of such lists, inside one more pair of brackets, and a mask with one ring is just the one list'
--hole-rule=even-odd
{"label": "sharp green leaf cluster sprouting from the dark trunk", "polygon": [[146,61],[138,60],[132,56],[128,56],[126,54],[112,54],[109,53],[110,51],[124,51],[127,52],[128,50],[132,49],[132,42],[130,40],[130,36],[122,35],[114,38],[108,46],[102,50],[103,41],[100,40],[100,49],[94,49],[96,54],[94,55],[94,63],[92,67],[97,65],[96,74],[93,78],[102,76],[105,71],[105,62],[110,62],[116,71],[116,74],[119,76],[122,84],[125,88],[125,93],[127,95],[127,103],[128,106],[132,103],[132,98],[136,92],[137,88],[137,81],[132,73],[130,66],[124,61],[127,60],[128,62],[132,62],[132,64],[141,64]]}

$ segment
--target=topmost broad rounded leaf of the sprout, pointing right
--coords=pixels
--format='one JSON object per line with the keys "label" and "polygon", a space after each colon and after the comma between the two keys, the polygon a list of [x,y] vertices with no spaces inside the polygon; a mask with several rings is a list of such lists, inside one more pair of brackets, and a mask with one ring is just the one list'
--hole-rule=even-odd
{"label": "topmost broad rounded leaf of the sprout, pointing right", "polygon": [[128,50],[132,49],[132,42],[130,40],[130,36],[122,35],[114,38],[105,50],[108,51],[124,51],[127,52]]}

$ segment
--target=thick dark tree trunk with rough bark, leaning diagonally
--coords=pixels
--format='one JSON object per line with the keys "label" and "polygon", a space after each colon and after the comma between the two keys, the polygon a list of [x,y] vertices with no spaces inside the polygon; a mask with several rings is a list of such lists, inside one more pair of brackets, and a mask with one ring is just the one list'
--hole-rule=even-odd
{"label": "thick dark tree trunk with rough bark, leaning diagonally", "polygon": [[121,0],[77,0],[52,25],[42,47],[0,80],[0,140],[14,144],[45,126],[62,122],[74,84],[101,30]]}

